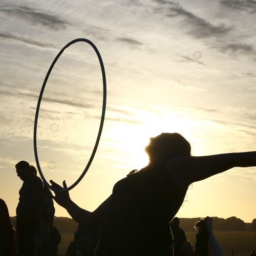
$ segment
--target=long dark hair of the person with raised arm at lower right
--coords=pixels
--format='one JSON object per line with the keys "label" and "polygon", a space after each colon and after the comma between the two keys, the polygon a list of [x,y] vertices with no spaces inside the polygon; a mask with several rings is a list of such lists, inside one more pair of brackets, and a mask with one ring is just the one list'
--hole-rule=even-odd
{"label": "long dark hair of the person with raised arm at lower right", "polygon": [[206,226],[205,219],[201,219],[196,223],[196,227],[199,229],[199,232],[196,235],[196,252],[199,255],[208,255],[208,239],[209,233]]}

